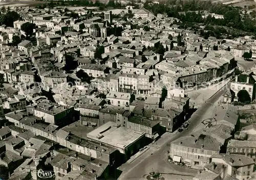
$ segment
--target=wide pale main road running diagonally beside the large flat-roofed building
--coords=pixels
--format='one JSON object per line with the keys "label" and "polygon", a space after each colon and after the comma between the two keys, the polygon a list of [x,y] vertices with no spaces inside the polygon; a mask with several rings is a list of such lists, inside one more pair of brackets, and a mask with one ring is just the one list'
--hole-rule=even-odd
{"label": "wide pale main road running diagonally beside the large flat-roofed building", "polygon": [[[196,174],[197,171],[194,169],[184,169],[184,167],[176,166],[173,164],[168,163],[167,161],[167,150],[169,150],[169,146],[167,143],[170,143],[180,137],[189,136],[190,133],[205,119],[206,112],[214,105],[216,101],[221,97],[221,95],[225,91],[219,91],[214,96],[209,98],[191,117],[190,117],[190,124],[188,126],[188,130],[184,130],[181,133],[175,133],[174,135],[170,136],[169,138],[159,139],[159,142],[156,143],[160,144],[158,148],[151,148],[147,152],[145,152],[142,156],[137,158],[131,164],[123,164],[120,167],[122,170],[122,174],[119,176],[118,179],[126,180],[126,179],[140,179],[143,175],[149,173],[152,169],[159,173],[176,173],[182,175],[191,175]],[[160,142],[162,141],[162,142]],[[179,179],[175,178],[175,175],[170,176],[172,179]],[[183,179],[186,179],[182,177]],[[191,178],[190,178],[191,179]]]}

